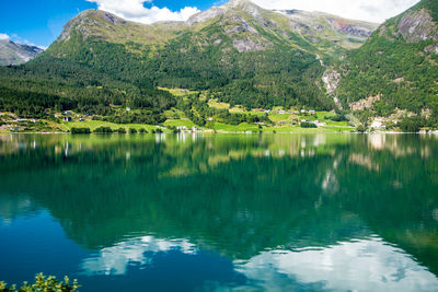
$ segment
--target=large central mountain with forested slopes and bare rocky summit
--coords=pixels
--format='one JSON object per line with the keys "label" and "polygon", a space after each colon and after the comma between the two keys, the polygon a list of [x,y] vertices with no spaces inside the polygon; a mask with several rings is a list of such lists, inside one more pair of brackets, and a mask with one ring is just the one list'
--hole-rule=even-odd
{"label": "large central mountain with forested slopes and bare rocky summit", "polygon": [[314,15],[231,1],[186,23],[143,25],[89,10],[38,58],[0,69],[0,106],[22,113],[55,105],[99,114],[112,105],[162,112],[176,103],[154,89],[165,86],[208,91],[246,107],[331,109],[322,60],[338,59],[377,25]]}

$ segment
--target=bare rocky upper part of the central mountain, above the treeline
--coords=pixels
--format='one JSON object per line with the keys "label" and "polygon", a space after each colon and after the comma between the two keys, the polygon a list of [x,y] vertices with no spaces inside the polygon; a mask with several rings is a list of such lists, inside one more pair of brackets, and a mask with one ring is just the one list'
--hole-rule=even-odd
{"label": "bare rocky upper part of the central mountain, above the treeline", "polygon": [[[335,15],[304,11],[269,11],[246,0],[232,0],[221,7],[193,15],[186,22],[132,23],[103,11],[89,10],[71,20],[58,43],[80,34],[110,43],[163,45],[184,33],[205,38],[205,31],[218,30],[242,51],[272,48],[275,42],[320,51],[338,54],[359,47],[378,24],[345,20]],[[223,39],[204,39],[201,45],[223,45]],[[307,48],[304,48],[307,47]]]}

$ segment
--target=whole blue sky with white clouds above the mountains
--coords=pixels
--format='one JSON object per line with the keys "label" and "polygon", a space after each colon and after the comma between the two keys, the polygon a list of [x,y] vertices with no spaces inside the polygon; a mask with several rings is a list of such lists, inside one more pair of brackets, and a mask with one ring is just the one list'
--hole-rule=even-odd
{"label": "whole blue sky with white clouds above the mountains", "polygon": [[[323,11],[339,16],[383,22],[419,0],[253,0],[266,9]],[[120,17],[152,23],[185,21],[227,0],[0,0],[0,39],[48,47],[64,25],[87,9],[101,9]]]}

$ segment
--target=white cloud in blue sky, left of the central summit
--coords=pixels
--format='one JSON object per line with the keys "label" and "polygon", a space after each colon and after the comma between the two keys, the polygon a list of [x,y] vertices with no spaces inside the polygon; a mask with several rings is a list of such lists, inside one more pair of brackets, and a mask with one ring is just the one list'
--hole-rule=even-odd
{"label": "white cloud in blue sky, left of the central summit", "polygon": [[158,21],[186,21],[189,16],[200,12],[196,7],[185,7],[180,11],[168,8],[145,8],[145,2],[151,0],[88,0],[97,3],[100,10],[114,13],[125,20],[150,24]]}

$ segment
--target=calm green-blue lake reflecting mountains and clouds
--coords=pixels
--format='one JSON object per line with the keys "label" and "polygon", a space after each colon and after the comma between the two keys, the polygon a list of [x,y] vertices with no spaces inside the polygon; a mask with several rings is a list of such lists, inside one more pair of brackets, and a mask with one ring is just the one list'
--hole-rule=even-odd
{"label": "calm green-blue lake reflecting mountains and clouds", "polygon": [[0,280],[438,291],[438,137],[0,135]]}

